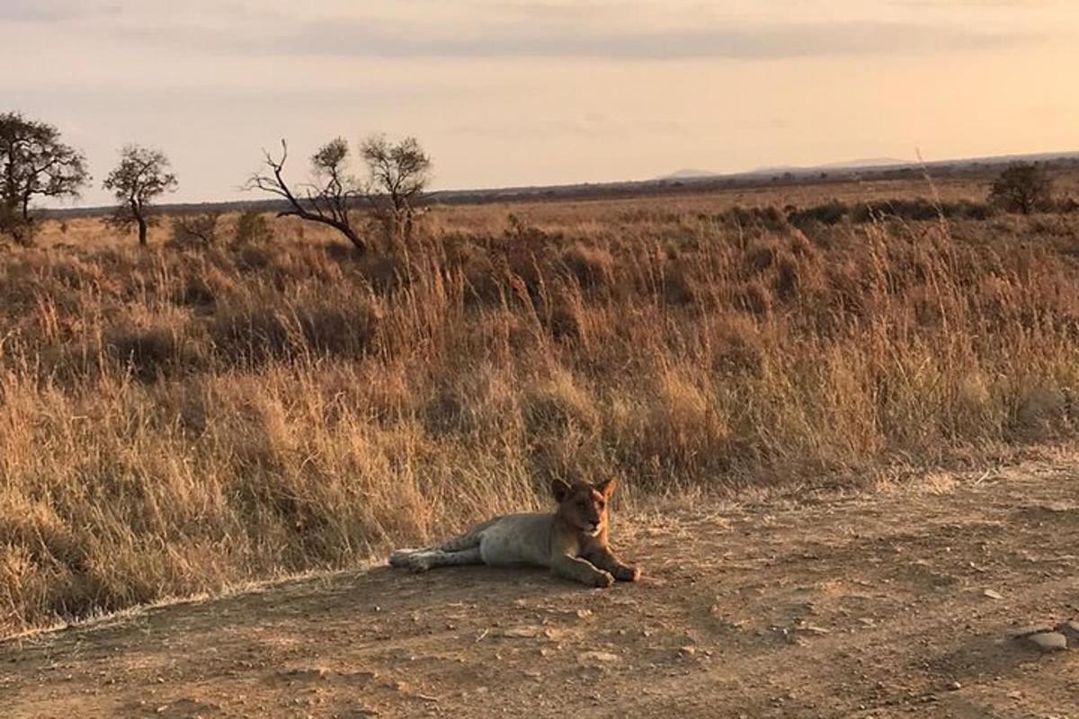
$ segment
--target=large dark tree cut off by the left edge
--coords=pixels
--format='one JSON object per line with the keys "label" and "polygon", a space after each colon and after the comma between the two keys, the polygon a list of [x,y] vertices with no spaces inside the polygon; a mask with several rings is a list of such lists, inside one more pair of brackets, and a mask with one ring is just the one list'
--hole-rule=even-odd
{"label": "large dark tree cut off by the left edge", "polygon": [[28,240],[30,201],[78,197],[88,180],[82,152],[62,142],[56,127],[17,112],[0,114],[0,232]]}

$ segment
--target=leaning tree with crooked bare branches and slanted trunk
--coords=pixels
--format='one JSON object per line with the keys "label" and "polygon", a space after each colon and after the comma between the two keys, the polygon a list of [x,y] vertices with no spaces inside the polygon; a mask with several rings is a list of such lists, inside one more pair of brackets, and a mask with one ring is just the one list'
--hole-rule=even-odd
{"label": "leaning tree with crooked bare branches and slanted trunk", "polygon": [[285,140],[281,141],[281,151],[279,160],[263,152],[270,172],[252,175],[246,189],[269,192],[288,203],[288,208],[279,211],[277,217],[298,217],[328,225],[344,235],[357,250],[366,251],[367,240],[359,236],[353,225],[352,213],[364,195],[364,188],[349,175],[349,142],[339,137],[319,148],[311,156],[314,182],[297,185],[295,191],[284,177],[285,162],[288,160]]}

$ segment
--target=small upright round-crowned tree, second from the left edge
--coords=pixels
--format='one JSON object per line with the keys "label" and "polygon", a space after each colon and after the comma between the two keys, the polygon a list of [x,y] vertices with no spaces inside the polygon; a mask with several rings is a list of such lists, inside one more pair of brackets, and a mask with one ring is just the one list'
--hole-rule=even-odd
{"label": "small upright round-crowned tree, second from the left edge", "polygon": [[105,189],[119,203],[111,223],[117,227],[137,224],[139,245],[146,245],[147,227],[156,220],[150,215],[150,205],[176,190],[176,176],[168,167],[168,158],[160,150],[128,144],[120,151],[120,164],[105,179]]}

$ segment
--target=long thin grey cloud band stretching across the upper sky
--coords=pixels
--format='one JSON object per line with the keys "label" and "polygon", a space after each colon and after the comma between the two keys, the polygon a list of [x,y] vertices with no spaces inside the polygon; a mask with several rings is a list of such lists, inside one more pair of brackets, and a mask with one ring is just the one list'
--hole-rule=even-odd
{"label": "long thin grey cloud band stretching across the upper sky", "polygon": [[979,31],[911,23],[769,24],[661,30],[508,24],[447,31],[385,19],[319,20],[257,34],[177,27],[125,30],[147,41],[194,43],[243,55],[355,58],[777,59],[909,55],[998,49],[1042,37],[1029,30]]}

